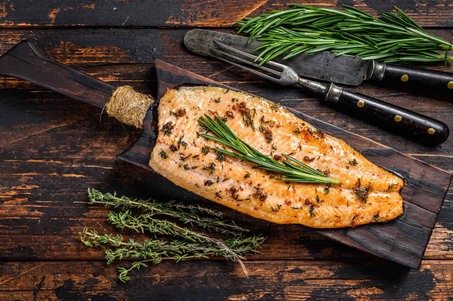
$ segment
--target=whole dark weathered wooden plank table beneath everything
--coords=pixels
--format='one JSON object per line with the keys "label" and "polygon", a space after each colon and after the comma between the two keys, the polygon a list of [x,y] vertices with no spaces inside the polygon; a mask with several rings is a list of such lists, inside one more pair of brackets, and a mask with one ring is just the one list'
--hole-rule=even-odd
{"label": "whole dark weathered wooden plank table beneath everything", "polygon": [[[152,58],[216,81],[281,100],[284,105],[374,139],[415,158],[453,170],[453,138],[434,148],[337,112],[312,95],[263,81],[222,62],[189,53],[183,36],[193,27],[233,33],[234,20],[283,9],[284,1],[10,0],[0,4],[0,53],[24,38],[56,61],[109,82],[156,95]],[[338,3],[337,3],[338,2]],[[326,7],[355,4],[373,15],[388,1],[310,1]],[[414,20],[453,41],[453,5],[447,0],[392,1]],[[452,65],[429,66],[453,72]],[[247,279],[225,260],[164,261],[131,272],[122,284],[103,251],[84,246],[83,226],[116,232],[108,209],[87,205],[87,188],[166,199],[167,181],[115,156],[140,131],[101,111],[26,81],[0,78],[0,299],[43,300],[299,300],[448,299],[453,297],[452,191],[439,214],[420,270],[402,267],[297,225],[274,225],[218,205],[228,217],[252,224],[269,239],[249,258]],[[425,115],[453,128],[447,98],[365,83],[354,90]],[[190,202],[190,199],[181,200]],[[207,202],[205,205],[208,204]]]}

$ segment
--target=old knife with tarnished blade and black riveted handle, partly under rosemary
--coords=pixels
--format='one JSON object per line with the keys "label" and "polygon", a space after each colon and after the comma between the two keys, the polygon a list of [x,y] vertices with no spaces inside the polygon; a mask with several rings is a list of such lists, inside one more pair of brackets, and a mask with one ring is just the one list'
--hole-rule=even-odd
{"label": "old knife with tarnished blade and black riveted handle, partly under rosemary", "polygon": [[[247,37],[206,29],[192,29],[186,34],[184,43],[186,46],[198,44],[200,52],[208,53],[209,48],[214,47],[214,40],[247,53],[264,43],[256,39],[247,43]],[[288,53],[289,51],[275,57],[273,61],[292,67],[300,76],[352,86],[371,79],[389,86],[453,95],[453,73],[362,60],[347,54],[336,56],[335,53],[327,51],[315,54],[300,53],[283,60]]]}

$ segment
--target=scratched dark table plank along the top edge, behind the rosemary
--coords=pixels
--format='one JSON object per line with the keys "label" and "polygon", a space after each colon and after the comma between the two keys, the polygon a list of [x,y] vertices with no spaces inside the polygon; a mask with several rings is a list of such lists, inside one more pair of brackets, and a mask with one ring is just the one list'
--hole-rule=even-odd
{"label": "scratched dark table plank along the top edge, behind the rosemary", "polygon": [[[301,2],[301,1],[296,1]],[[307,5],[338,8],[343,4],[372,15],[391,11],[396,5],[422,26],[449,27],[453,24],[453,8],[448,0],[310,0]],[[33,10],[30,6],[33,5]],[[124,0],[10,0],[0,5],[0,24],[6,27],[226,27],[235,20],[255,17],[270,10],[283,10],[289,2],[272,0],[211,0],[211,1],[124,1]]]}

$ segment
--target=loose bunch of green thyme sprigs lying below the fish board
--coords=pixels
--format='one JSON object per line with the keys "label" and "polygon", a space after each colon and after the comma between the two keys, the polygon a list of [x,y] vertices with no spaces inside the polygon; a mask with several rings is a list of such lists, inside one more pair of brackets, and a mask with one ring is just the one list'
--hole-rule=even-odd
{"label": "loose bunch of green thyme sprigs lying below the fish board", "polygon": [[[102,194],[97,190],[88,191],[91,204],[103,204],[113,207],[122,206],[120,212],[111,211],[107,216],[107,221],[117,228],[134,229],[135,231],[145,233],[150,232],[154,235],[153,239],[136,241],[134,239],[125,240],[121,234],[103,234],[100,235],[96,230],[90,230],[85,227],[79,232],[82,242],[89,246],[98,246],[106,248],[107,264],[112,263],[115,259],[139,258],[131,264],[130,268],[119,268],[119,278],[121,282],[130,280],[128,272],[132,269],[146,267],[146,263],[160,263],[162,260],[172,259],[176,262],[194,258],[209,258],[212,256],[222,256],[227,260],[239,263],[247,275],[246,268],[242,260],[244,256],[259,253],[260,245],[264,241],[261,235],[250,237],[240,236],[241,231],[248,231],[241,227],[236,229],[232,227],[231,233],[237,232],[236,236],[230,239],[215,239],[206,234],[193,231],[188,228],[178,226],[168,220],[159,220],[155,215],[168,215],[179,218],[179,214],[188,210],[192,215],[198,217],[200,213],[208,215],[222,216],[219,211],[211,210],[199,205],[183,205],[172,203],[152,202],[153,209],[149,206],[148,201],[130,199],[128,197],[117,198],[115,195]],[[137,204],[140,204],[139,205]],[[134,216],[127,208],[141,208],[148,210],[149,213]],[[175,215],[170,215],[175,214]],[[200,217],[202,219],[202,217]],[[197,220],[197,219],[195,219]],[[231,222],[230,222],[231,223]],[[231,223],[229,225],[236,225]],[[223,231],[222,233],[231,234]],[[170,241],[158,239],[157,235],[172,237]]]}

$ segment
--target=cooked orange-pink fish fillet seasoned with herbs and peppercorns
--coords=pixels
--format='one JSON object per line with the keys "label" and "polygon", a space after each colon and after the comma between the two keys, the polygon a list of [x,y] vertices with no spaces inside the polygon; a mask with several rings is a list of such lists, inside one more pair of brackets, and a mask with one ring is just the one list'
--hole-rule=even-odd
{"label": "cooked orange-pink fish fillet seasoned with herbs and peppercorns", "polygon": [[[241,114],[244,105],[250,120]],[[159,135],[149,166],[208,200],[259,219],[313,228],[354,227],[403,213],[402,179],[269,100],[222,87],[181,86],[165,93],[158,110]],[[227,155],[222,161],[212,149],[202,153],[207,147],[234,151],[199,135],[197,120],[204,114],[226,118],[231,130],[261,153],[291,154],[341,184],[285,183],[252,163]],[[271,141],[265,136],[269,130]],[[357,196],[358,189],[367,196]]]}

